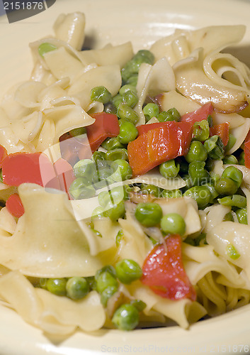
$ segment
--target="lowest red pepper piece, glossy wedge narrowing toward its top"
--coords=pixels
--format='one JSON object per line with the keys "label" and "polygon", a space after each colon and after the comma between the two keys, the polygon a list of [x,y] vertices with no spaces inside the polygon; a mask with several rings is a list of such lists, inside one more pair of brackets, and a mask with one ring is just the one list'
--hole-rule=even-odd
{"label": "lowest red pepper piece, glossy wedge narrowing toward its top", "polygon": [[178,234],[166,238],[166,249],[163,244],[154,247],[145,259],[142,271],[142,283],[157,295],[170,300],[195,300],[195,290],[183,268]]}

